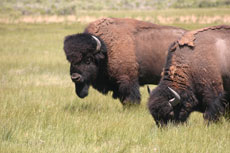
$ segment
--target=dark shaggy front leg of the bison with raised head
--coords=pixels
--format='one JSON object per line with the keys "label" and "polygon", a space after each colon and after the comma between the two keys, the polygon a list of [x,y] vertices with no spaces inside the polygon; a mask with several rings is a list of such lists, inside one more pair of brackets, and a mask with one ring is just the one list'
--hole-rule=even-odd
{"label": "dark shaggy front leg of the bison with raised head", "polygon": [[138,81],[119,83],[119,99],[123,105],[140,104],[141,96]]}

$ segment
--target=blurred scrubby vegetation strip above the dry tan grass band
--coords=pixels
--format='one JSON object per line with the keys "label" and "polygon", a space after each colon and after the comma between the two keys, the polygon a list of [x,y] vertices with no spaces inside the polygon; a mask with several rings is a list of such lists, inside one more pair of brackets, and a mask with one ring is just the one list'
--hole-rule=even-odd
{"label": "blurred scrubby vegetation strip above the dry tan grass band", "polygon": [[156,10],[229,6],[230,0],[1,0],[0,12],[17,15],[69,15],[80,10]]}

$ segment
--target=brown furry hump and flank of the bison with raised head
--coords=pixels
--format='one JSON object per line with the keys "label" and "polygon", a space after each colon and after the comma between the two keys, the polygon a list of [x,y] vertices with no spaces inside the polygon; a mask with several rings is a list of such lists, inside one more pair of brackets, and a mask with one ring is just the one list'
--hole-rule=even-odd
{"label": "brown furry hump and flank of the bison with raised head", "polygon": [[108,71],[112,77],[136,79],[140,64],[144,64],[143,67],[156,71],[153,75],[157,76],[154,81],[157,84],[169,45],[185,30],[134,19],[103,18],[91,23],[85,32],[105,42],[109,57]]}

